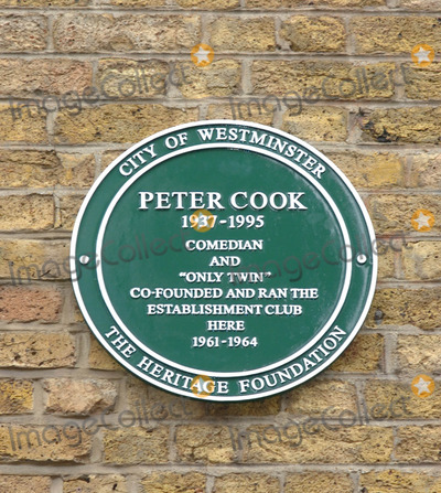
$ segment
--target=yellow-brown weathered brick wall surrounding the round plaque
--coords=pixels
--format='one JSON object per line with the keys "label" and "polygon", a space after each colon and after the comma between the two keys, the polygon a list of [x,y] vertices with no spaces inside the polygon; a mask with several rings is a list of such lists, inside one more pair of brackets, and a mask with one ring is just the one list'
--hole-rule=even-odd
{"label": "yellow-brown weathered brick wall surrounding the round plaque", "polygon": [[[201,42],[215,51],[205,67],[190,57]],[[411,58],[421,43],[428,66]],[[439,0],[0,0],[1,493],[441,492],[440,51]],[[315,146],[381,240],[353,344],[312,382],[251,404],[131,377],[68,280],[99,172],[207,118]],[[433,226],[416,227],[419,210]],[[435,382],[427,398],[411,389],[420,374]]]}

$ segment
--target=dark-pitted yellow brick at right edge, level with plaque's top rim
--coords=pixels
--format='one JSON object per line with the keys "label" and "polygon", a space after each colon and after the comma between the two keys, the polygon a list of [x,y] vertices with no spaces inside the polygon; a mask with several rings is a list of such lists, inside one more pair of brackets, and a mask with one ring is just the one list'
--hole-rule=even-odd
{"label": "dark-pitted yellow brick at right edge, level with plaque's top rim", "polygon": [[358,127],[363,141],[439,143],[441,107],[363,110]]}

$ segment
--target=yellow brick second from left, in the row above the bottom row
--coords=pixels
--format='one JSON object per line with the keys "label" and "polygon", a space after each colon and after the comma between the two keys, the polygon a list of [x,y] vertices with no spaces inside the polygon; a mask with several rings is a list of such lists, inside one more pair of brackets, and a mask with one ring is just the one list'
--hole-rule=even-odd
{"label": "yellow brick second from left, in the row above the bottom row", "polygon": [[131,427],[106,430],[104,462],[114,464],[163,464],[169,456],[169,428]]}

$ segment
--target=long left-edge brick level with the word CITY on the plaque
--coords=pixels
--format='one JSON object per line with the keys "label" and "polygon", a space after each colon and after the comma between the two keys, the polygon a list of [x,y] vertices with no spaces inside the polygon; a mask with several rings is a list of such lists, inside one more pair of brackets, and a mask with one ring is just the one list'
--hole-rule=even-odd
{"label": "long left-edge brick level with the word CITY on the plaque", "polygon": [[89,187],[95,175],[93,154],[54,151],[10,151],[0,154],[0,186]]}

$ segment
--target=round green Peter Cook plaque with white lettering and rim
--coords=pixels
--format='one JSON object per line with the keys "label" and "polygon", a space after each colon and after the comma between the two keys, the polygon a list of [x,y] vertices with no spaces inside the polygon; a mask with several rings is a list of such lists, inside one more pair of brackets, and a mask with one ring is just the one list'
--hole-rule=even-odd
{"label": "round green Peter Cook plaque with white lettering and rim", "polygon": [[75,294],[103,346],[174,394],[248,400],[335,361],[372,302],[370,219],[318,150],[232,120],[157,133],[79,211]]}

